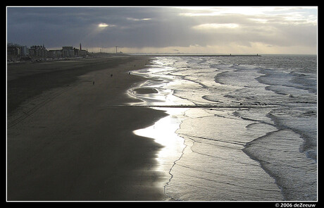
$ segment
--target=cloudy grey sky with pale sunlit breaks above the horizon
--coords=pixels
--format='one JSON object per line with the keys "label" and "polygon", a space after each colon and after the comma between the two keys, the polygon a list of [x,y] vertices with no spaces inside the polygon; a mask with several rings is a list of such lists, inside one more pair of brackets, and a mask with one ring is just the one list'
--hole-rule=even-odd
{"label": "cloudy grey sky with pale sunlit breaks above the horizon", "polygon": [[318,7],[7,7],[7,42],[88,51],[317,54]]}

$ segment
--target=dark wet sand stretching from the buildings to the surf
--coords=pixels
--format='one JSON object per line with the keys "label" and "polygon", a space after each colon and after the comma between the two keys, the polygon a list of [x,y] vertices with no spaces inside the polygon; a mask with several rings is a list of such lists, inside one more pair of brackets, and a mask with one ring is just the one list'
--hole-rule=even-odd
{"label": "dark wet sand stretching from the buildings to the surf", "polygon": [[[161,145],[133,130],[166,116],[127,89],[145,56],[8,66],[8,201],[167,200]],[[111,77],[113,74],[113,77]],[[163,178],[164,177],[164,178]]]}

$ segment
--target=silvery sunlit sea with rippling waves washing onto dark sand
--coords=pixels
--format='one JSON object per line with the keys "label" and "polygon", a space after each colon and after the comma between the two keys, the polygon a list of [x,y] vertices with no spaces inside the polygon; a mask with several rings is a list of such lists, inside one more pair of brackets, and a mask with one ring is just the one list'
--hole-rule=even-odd
{"label": "silvery sunlit sea with rippling waves washing onto dark sand", "polygon": [[131,73],[148,79],[130,105],[169,115],[135,134],[163,145],[171,200],[317,200],[317,56],[156,56]]}

